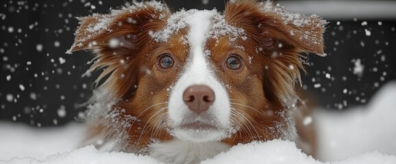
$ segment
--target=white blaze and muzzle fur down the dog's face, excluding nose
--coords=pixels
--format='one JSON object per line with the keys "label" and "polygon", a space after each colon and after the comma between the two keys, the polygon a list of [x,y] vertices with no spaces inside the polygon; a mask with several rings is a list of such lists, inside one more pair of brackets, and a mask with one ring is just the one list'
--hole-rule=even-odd
{"label": "white blaze and muzzle fur down the dog's face, excluding nose", "polygon": [[[190,11],[188,11],[190,12]],[[184,71],[177,79],[169,98],[169,118],[173,135],[179,139],[188,141],[216,141],[227,135],[230,128],[230,100],[219,79],[214,74],[212,66],[208,62],[208,57],[204,55],[206,40],[211,30],[212,18],[219,15],[215,10],[195,10],[186,14],[184,23],[188,27],[187,41],[190,45],[190,54]],[[207,85],[215,95],[213,105],[208,109],[209,118],[191,118],[193,111],[190,111],[183,100],[183,93],[191,85]],[[210,120],[208,120],[210,119]],[[193,122],[206,122],[221,129],[219,131],[188,131],[180,126]]]}

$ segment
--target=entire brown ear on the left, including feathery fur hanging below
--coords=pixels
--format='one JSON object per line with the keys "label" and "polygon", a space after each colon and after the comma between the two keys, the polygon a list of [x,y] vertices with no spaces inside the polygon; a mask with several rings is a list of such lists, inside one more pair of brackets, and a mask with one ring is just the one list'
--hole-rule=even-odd
{"label": "entire brown ear on the left, including feathery fur hanging below", "polygon": [[95,53],[95,61],[88,72],[106,68],[95,83],[108,77],[100,87],[111,90],[114,95],[125,96],[137,84],[138,58],[143,56],[140,54],[151,49],[151,34],[166,25],[170,14],[163,3],[147,1],[127,4],[120,10],[111,10],[110,14],[78,18],[74,43],[66,53],[80,50]]}

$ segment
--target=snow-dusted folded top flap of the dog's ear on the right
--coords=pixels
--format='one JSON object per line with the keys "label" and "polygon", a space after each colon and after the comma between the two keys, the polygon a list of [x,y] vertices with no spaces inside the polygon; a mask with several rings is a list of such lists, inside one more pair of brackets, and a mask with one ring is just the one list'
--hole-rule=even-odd
{"label": "snow-dusted folded top flap of the dog's ear on the right", "polygon": [[[323,53],[323,32],[327,22],[317,15],[287,12],[273,2],[257,2],[256,0],[234,0],[225,8],[228,23],[251,31],[251,36],[269,46],[270,40],[286,42],[297,48],[299,53],[310,52],[317,55]],[[278,46],[278,45],[276,45]]]}

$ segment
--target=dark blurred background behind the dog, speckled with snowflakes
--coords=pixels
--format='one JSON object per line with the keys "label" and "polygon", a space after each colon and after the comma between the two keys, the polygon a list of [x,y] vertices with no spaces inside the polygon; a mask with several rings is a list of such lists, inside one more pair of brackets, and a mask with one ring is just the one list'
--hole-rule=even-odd
{"label": "dark blurred background behind the dog, speckled with snowflakes", "polygon": [[[171,8],[224,10],[224,1],[166,0]],[[0,120],[53,126],[76,120],[86,109],[92,77],[82,77],[87,52],[66,55],[76,16],[107,13],[123,0],[1,0]],[[327,57],[310,56],[303,89],[329,110],[364,105],[396,79],[395,1],[279,1],[286,10],[318,14],[330,23]],[[396,100],[396,98],[395,98]]]}

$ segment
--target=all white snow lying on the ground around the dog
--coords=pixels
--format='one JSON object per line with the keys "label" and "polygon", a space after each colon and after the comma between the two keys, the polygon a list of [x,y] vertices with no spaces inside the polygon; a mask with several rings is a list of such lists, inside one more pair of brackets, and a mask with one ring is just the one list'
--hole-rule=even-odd
{"label": "all white snow lying on the ground around the dog", "polygon": [[[202,163],[395,164],[395,97],[393,81],[384,85],[365,107],[317,110],[312,118],[319,132],[319,159],[325,162],[307,156],[294,142],[273,140],[234,146]],[[160,163],[149,156],[101,152],[93,146],[75,149],[84,139],[84,128],[75,123],[63,128],[32,128],[0,122],[0,164]]]}

